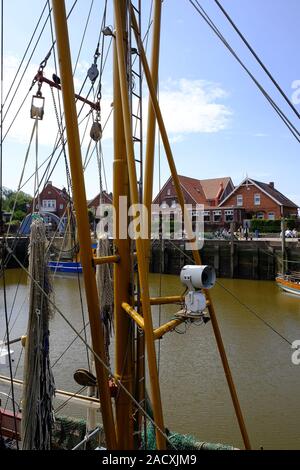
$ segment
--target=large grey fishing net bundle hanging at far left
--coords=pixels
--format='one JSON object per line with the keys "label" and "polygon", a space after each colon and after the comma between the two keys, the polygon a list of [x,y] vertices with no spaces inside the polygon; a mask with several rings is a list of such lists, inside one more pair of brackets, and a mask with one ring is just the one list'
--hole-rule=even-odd
{"label": "large grey fishing net bundle hanging at far left", "polygon": [[22,400],[24,450],[47,450],[51,446],[55,385],[49,361],[51,287],[45,244],[45,225],[39,216],[35,216],[29,244],[29,317]]}

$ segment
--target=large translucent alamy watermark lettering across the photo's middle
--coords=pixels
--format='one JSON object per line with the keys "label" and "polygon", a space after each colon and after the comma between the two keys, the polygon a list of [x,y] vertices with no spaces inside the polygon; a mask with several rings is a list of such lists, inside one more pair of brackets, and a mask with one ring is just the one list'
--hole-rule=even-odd
{"label": "large translucent alamy watermark lettering across the photo's middle", "polygon": [[[119,214],[117,218],[116,215]],[[101,204],[96,212],[99,219],[97,234],[104,232],[112,238],[131,240],[159,239],[184,240],[186,250],[199,250],[204,243],[204,206],[185,204],[184,210],[176,205],[163,203],[151,205],[151,219],[143,204],[128,204],[126,196],[120,196],[118,204]],[[149,233],[151,220],[151,234]],[[116,223],[118,220],[118,223]]]}

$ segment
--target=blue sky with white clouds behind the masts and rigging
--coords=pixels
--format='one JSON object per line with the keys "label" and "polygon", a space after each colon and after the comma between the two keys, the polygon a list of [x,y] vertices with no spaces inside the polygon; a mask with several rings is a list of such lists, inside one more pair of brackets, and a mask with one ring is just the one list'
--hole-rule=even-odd
{"label": "blue sky with white clouds behind the masts and rigging", "polygon": [[[67,2],[68,5],[71,3]],[[146,22],[151,2],[144,0],[143,3],[146,8]],[[251,71],[261,80],[267,91],[299,128],[297,118],[293,117],[269,79],[260,71],[215,2],[200,0],[200,3]],[[28,8],[25,9],[24,2],[21,0],[10,2],[4,0],[4,4],[4,52],[6,63],[10,64],[13,69],[24,52],[44,2],[31,0],[26,2]],[[86,67],[88,68],[92,60],[103,4],[101,0],[94,2],[92,19],[75,81],[77,89],[84,79]],[[111,14],[111,0],[108,4]],[[291,97],[293,81],[300,80],[299,1],[222,0],[222,4],[270,68],[286,94]],[[78,5],[70,20],[70,37],[74,52],[78,51],[89,6],[90,1],[78,0]],[[111,19],[108,22],[111,22]],[[236,63],[188,0],[164,0],[162,28],[161,107],[166,116],[166,125],[170,132],[178,172],[199,179],[231,176],[235,184],[239,184],[246,174],[261,181],[275,181],[279,190],[300,205],[299,144],[240,65]],[[50,43],[51,37],[49,27],[47,27],[39,48],[32,58],[31,74],[44,58]],[[51,76],[52,59],[48,67]],[[9,69],[4,69],[7,77],[10,73]],[[4,83],[6,83],[5,78]],[[5,86],[7,87],[7,84]],[[23,95],[28,89],[28,83],[24,86]],[[103,117],[109,111],[111,94],[111,70],[110,62],[108,62],[103,80]],[[47,112],[51,114],[50,107],[51,97],[47,96],[46,115],[40,127],[41,159],[51,151],[50,127],[45,121]],[[16,123],[16,127],[12,129],[4,143],[3,183],[5,186],[16,187],[18,184],[16,168],[21,169],[32,127],[32,121],[28,119],[29,122],[27,122],[26,117],[29,108],[30,100],[22,121]],[[300,105],[297,105],[297,109],[300,112]],[[110,131],[103,140],[103,149],[108,189],[111,189]],[[156,165],[155,190],[159,187],[157,167],[158,165]],[[161,170],[161,184],[163,184],[169,176],[163,153]],[[53,175],[53,182],[57,185],[63,184],[62,173],[63,167],[61,166]],[[93,197],[98,190],[93,164],[87,171],[86,178],[87,195]],[[29,186],[26,189],[30,192]]]}

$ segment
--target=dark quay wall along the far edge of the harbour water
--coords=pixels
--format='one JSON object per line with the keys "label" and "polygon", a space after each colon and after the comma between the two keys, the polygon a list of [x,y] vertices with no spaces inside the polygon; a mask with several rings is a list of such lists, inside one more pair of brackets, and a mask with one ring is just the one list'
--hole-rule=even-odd
{"label": "dark quay wall along the far edge of the harbour water", "polygon": [[[21,237],[16,240],[10,237],[7,242],[18,260],[26,266],[28,238]],[[56,240],[55,244],[56,252],[60,252],[60,240]],[[218,277],[273,280],[282,270],[280,239],[236,240],[234,242],[206,240],[200,253],[203,264],[214,266]],[[298,240],[286,241],[284,259],[288,269],[300,271],[300,242]],[[8,267],[19,267],[13,256],[8,255],[7,261]],[[192,253],[185,251],[184,241],[153,241],[150,272],[178,275],[184,265],[191,263]]]}

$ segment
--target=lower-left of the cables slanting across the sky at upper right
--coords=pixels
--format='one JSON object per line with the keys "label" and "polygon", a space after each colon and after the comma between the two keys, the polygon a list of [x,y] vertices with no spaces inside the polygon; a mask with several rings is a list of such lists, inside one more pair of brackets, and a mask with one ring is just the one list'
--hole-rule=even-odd
{"label": "lower-left of the cables slanting across the sky at upper right", "polygon": [[208,24],[208,26],[213,30],[213,32],[218,36],[218,38],[222,41],[222,43],[227,47],[230,53],[234,56],[234,58],[238,61],[241,67],[245,70],[245,72],[249,75],[267,101],[270,103],[274,111],[278,114],[280,119],[284,122],[290,132],[293,134],[295,139],[300,143],[300,132],[299,130],[293,125],[293,123],[288,119],[288,117],[284,114],[284,112],[279,108],[279,106],[274,102],[274,100],[270,97],[270,95],[266,92],[264,87],[258,82],[258,80],[254,77],[254,75],[250,72],[250,70],[246,67],[244,62],[239,58],[237,53],[232,49],[229,43],[226,41],[225,37],[222,35],[220,30],[211,20],[209,15],[205,12],[203,7],[201,7],[198,0],[188,0],[191,5],[195,8],[195,10],[199,13],[199,15],[204,19],[204,21]]}

